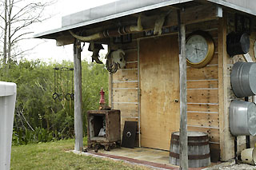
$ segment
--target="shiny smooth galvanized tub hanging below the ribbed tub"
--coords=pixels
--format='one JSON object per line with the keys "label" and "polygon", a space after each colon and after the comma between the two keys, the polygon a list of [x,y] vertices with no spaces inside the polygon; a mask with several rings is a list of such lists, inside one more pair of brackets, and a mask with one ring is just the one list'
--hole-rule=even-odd
{"label": "shiny smooth galvanized tub hanging below the ribbed tub", "polygon": [[256,105],[254,103],[231,102],[230,132],[234,136],[256,135]]}

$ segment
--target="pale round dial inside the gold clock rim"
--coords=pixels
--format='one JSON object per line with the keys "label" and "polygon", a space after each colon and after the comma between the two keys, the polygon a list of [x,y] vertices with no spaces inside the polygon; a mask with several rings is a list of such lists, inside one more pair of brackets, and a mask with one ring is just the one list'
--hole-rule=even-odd
{"label": "pale round dial inside the gold clock rim", "polygon": [[202,35],[195,34],[186,42],[186,59],[190,63],[202,62],[208,53],[208,43]]}

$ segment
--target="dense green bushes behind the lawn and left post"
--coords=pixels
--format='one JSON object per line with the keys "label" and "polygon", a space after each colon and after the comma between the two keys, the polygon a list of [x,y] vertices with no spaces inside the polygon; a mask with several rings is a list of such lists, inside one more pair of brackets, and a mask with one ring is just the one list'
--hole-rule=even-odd
{"label": "dense green bushes behind the lawn and left post", "polygon": [[[74,101],[53,99],[56,91],[63,96],[73,93],[71,71],[58,71],[54,67],[74,68],[73,63],[46,64],[42,61],[20,61],[6,68],[2,65],[1,81],[17,84],[14,115],[13,144],[28,144],[74,138]],[[86,112],[98,109],[99,91],[103,87],[108,102],[108,72],[104,65],[82,61],[82,117],[86,136]]]}

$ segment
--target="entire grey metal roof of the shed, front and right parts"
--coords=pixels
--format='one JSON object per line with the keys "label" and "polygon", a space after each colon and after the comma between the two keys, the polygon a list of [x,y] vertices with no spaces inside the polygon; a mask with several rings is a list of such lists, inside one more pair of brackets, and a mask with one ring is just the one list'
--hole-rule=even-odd
{"label": "entire grey metal roof of the shed, front and right parts", "polygon": [[[89,10],[70,14],[62,17],[62,28],[49,30],[40,34],[35,34],[34,38],[58,37],[58,33],[75,29],[82,26],[89,26],[99,22],[105,22],[114,18],[121,18],[130,14],[140,13],[146,10],[154,10],[164,6],[171,6],[183,2],[194,0],[120,0],[104,6],[98,6]],[[255,0],[205,0],[214,2],[220,6],[226,6],[234,10],[239,10],[256,16]]]}

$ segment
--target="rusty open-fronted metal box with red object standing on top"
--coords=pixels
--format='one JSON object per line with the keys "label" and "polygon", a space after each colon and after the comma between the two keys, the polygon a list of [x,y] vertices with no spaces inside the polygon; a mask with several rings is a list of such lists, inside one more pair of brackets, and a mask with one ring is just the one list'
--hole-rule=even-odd
{"label": "rusty open-fronted metal box with red object standing on top", "polygon": [[[88,148],[99,144],[109,150],[112,145],[120,145],[120,110],[90,110],[87,112],[87,121]],[[105,129],[104,132],[101,129]]]}

